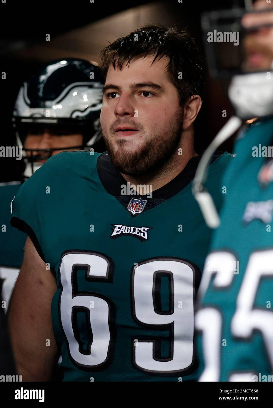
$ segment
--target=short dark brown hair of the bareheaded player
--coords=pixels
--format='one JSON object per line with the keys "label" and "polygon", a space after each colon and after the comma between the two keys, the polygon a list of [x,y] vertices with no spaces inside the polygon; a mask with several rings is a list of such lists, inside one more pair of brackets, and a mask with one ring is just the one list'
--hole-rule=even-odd
{"label": "short dark brown hair of the bareheaded player", "polygon": [[[186,29],[178,31],[175,27],[151,25],[118,38],[100,53],[104,78],[106,79],[110,64],[114,69],[116,64],[117,69],[121,69],[125,60],[128,60],[126,64],[128,65],[133,58],[141,55],[145,57],[148,54],[155,55],[153,62],[164,55],[168,58],[167,72],[178,90],[181,105],[192,95],[202,97],[201,58],[195,42]],[[179,72],[182,73],[183,79],[178,78]]]}

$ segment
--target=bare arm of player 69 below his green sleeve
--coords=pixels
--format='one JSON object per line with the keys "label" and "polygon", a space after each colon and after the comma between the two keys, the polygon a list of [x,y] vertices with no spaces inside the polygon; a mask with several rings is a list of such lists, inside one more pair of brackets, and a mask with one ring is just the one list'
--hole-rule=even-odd
{"label": "bare arm of player 69 below his green sleeve", "polygon": [[54,276],[27,237],[8,313],[11,344],[22,381],[50,381],[56,367],[59,353],[51,322],[51,300],[56,290]]}

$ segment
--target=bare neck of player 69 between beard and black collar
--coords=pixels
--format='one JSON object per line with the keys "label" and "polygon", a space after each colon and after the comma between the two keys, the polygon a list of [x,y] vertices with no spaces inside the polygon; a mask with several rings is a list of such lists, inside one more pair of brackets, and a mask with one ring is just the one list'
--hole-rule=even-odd
{"label": "bare neck of player 69 between beard and black collar", "polygon": [[[161,166],[160,169],[154,171],[149,171],[141,175],[121,175],[125,178],[130,184],[140,184],[140,185],[149,185],[152,186],[152,191],[157,190],[158,188],[165,186],[168,182],[174,179],[181,171],[186,167],[188,161],[197,156],[195,153],[192,143],[192,138],[187,138],[186,140],[191,140],[191,143],[180,142],[179,146],[175,153],[170,157],[170,159]],[[182,149],[182,150],[179,150]],[[179,152],[182,152],[182,154]],[[139,190],[139,189],[137,189]],[[137,191],[141,194],[140,191]]]}

